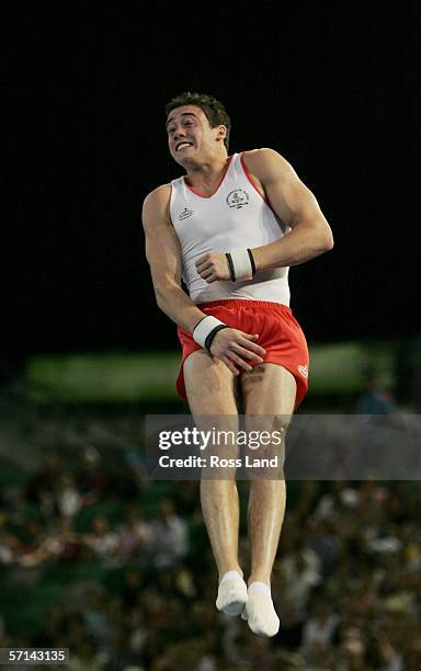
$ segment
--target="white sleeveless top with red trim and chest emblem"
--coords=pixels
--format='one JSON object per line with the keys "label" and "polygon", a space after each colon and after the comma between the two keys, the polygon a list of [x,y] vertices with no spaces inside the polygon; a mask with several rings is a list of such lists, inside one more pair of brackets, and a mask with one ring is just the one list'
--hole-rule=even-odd
{"label": "white sleeveless top with red trim and chest emblem", "polygon": [[194,303],[225,298],[289,305],[288,268],[258,271],[252,280],[207,284],[195,261],[210,251],[262,247],[291,230],[251,182],[242,153],[235,153],[216,192],[201,196],[184,178],[171,182],[171,221],[180,240],[182,277]]}

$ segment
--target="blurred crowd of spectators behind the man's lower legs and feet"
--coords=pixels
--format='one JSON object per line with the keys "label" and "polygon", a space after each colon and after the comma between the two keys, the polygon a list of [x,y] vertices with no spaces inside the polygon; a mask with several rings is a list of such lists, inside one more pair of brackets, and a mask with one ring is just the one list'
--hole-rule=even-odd
{"label": "blurred crowd of spectators behind the man's lower legs and feet", "polygon": [[[47,603],[36,635],[10,628],[3,614],[0,647],[69,648],[70,671],[421,669],[417,482],[287,486],[272,581],[281,629],[273,639],[216,611],[198,482],[171,487],[157,497],[157,482],[133,454],[107,463],[91,450],[75,455],[72,468],[47,453],[20,487],[3,488],[0,573],[9,584],[31,599],[57,568],[96,565],[103,572],[69,580]],[[239,490],[244,511],[248,484]],[[247,575],[246,532],[242,520]],[[118,575],[118,588],[104,575]]]}

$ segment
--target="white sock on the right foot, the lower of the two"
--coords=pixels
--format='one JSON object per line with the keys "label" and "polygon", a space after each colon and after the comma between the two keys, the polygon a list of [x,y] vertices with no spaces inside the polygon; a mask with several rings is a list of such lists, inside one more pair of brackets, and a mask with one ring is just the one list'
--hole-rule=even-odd
{"label": "white sock on the right foot, the lower of the two", "polygon": [[252,582],[247,591],[248,600],[242,619],[258,636],[275,636],[280,629],[280,618],[273,606],[270,588],[264,582]]}

